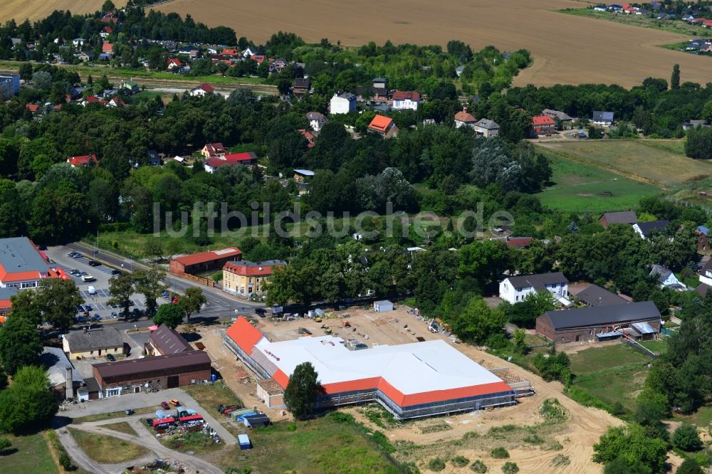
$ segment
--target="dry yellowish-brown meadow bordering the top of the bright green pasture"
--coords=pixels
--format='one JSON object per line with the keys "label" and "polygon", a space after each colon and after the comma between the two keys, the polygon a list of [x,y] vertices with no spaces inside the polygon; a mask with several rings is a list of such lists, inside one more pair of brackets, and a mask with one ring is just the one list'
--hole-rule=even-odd
{"label": "dry yellowish-brown meadow bordering the top of the bright green pasture", "polygon": [[580,140],[539,144],[559,157],[668,190],[712,175],[712,164],[686,157],[675,140]]}

